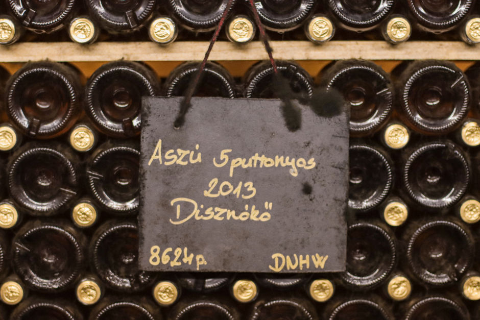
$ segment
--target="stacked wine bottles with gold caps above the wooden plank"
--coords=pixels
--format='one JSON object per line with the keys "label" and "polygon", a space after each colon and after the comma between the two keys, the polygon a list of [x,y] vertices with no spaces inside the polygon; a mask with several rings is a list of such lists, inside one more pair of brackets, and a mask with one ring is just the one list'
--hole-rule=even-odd
{"label": "stacked wine bottles with gold caps above the wooden plank", "polygon": [[[381,39],[395,44],[410,38],[480,42],[480,10],[474,0],[255,0],[262,25],[272,39]],[[249,0],[233,1],[225,38],[246,43],[256,33]],[[208,39],[228,0],[2,0],[0,44],[71,40],[148,40],[160,44]],[[60,30],[66,32],[58,32]],[[304,30],[304,35],[298,30]],[[297,30],[297,31],[295,31]],[[24,36],[22,34],[28,31]],[[49,34],[54,33],[52,36]]]}

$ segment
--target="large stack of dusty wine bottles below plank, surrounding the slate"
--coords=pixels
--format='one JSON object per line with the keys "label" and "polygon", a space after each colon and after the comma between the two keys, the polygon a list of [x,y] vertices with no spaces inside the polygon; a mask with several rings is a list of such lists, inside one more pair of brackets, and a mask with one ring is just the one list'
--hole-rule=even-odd
{"label": "large stack of dusty wine bottles below plank, surrounding the slate", "polygon": [[[141,62],[0,69],[0,319],[477,319],[480,64],[332,62],[314,81],[278,61],[289,99],[350,110],[346,271],[171,274],[138,269],[141,96],[182,96]],[[273,67],[242,81],[208,62],[195,95],[285,99]],[[322,103],[322,100],[315,100]]]}

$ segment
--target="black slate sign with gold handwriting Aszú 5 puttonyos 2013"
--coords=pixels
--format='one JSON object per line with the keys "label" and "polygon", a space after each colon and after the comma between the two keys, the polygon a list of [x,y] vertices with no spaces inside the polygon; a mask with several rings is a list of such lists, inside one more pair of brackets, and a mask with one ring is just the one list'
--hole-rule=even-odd
{"label": "black slate sign with gold handwriting Asz\u00fa 5 puttonyos 2013", "polygon": [[348,119],[278,100],[143,98],[140,267],[318,273],[345,269]]}

